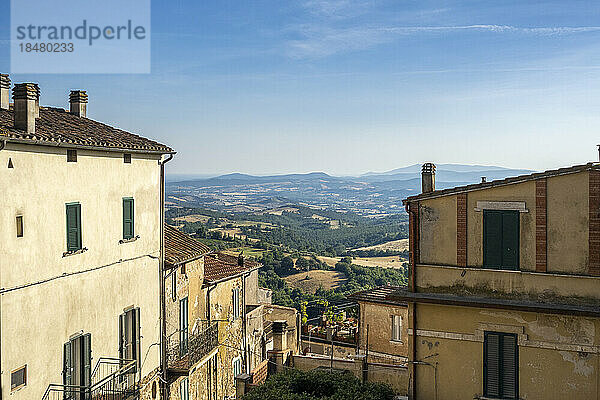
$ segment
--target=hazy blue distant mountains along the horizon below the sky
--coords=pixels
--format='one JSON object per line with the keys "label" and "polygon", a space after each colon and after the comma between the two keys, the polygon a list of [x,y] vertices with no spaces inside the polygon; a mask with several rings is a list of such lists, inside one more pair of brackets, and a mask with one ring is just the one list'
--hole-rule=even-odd
{"label": "hazy blue distant mountains along the horizon below the sky", "polygon": [[[497,166],[440,164],[436,168],[436,189],[477,183],[484,176],[492,181],[532,172]],[[269,176],[233,173],[167,182],[169,206],[261,212],[283,204],[300,204],[368,217],[402,213],[402,199],[420,191],[419,164],[357,177],[324,172]]]}

